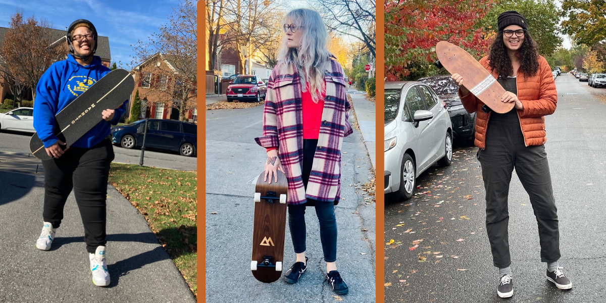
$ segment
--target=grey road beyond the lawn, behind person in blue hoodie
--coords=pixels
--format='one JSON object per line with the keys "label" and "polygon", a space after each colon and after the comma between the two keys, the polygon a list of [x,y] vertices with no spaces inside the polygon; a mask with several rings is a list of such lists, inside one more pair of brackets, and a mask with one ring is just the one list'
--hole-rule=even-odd
{"label": "grey road beyond the lawn, behind person in blue hoodie", "polygon": [[[20,153],[27,155],[29,153],[29,144],[32,134],[20,132],[1,132],[0,133],[0,151],[11,153]],[[128,150],[114,145],[116,158],[113,162],[139,164],[141,158],[141,149]],[[145,150],[143,165],[148,167],[168,168],[173,170],[197,170],[197,157],[185,157],[178,153],[168,151]],[[42,165],[40,165],[42,168]],[[40,170],[39,172],[42,172]]]}

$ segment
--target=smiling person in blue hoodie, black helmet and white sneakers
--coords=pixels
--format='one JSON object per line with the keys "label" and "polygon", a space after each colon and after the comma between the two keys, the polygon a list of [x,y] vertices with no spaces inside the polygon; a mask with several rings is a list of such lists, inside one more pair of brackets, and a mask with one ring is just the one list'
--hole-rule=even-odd
{"label": "smiling person in blue hoodie, black helmet and white sneakers", "polygon": [[42,75],[36,87],[34,101],[34,128],[53,159],[42,161],[44,167],[44,227],[36,247],[49,250],[56,229],[63,219],[63,208],[72,189],[84,224],[84,241],[89,253],[93,283],[110,284],[105,262],[105,225],[107,180],[110,163],[114,159],[109,139],[110,125],[118,124],[128,102],[120,107],[107,108],[102,121],[74,142],[70,148],[55,136],[55,115],[95,84],[110,69],[94,56],[97,31],[92,22],[74,21],[67,29],[70,53],[67,59],[55,62]]}

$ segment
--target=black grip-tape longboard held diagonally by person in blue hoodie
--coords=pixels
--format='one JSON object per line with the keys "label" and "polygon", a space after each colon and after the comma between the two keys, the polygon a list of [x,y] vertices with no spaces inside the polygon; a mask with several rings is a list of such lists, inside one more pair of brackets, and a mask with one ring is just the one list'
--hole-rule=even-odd
{"label": "black grip-tape longboard held diagonally by person in blue hoodie", "polygon": [[[99,79],[86,92],[74,99],[55,115],[55,135],[65,142],[59,145],[63,150],[78,141],[102,120],[102,112],[107,108],[118,108],[130,98],[135,88],[135,79],[128,70],[118,68]],[[41,160],[48,156],[42,140],[35,133],[30,139],[32,155]]]}

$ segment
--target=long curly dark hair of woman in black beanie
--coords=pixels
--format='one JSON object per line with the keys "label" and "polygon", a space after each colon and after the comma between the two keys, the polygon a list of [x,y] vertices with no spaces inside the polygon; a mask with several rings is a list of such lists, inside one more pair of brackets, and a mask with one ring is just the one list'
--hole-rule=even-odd
{"label": "long curly dark hair of woman in black beanie", "polygon": [[[527,30],[524,30],[524,42],[520,45],[520,69],[527,76],[534,76],[539,70],[539,52],[537,51],[538,44],[530,36]],[[513,74],[513,66],[511,66],[511,59],[507,54],[507,48],[505,48],[505,41],[503,41],[503,31],[499,30],[494,39],[488,53],[488,64],[492,70],[496,70],[499,75],[509,76]]]}

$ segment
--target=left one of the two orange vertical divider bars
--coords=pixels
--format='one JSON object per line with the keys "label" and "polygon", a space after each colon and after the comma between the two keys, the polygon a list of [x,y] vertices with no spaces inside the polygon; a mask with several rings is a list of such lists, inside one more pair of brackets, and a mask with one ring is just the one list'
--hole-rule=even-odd
{"label": "left one of the two orange vertical divider bars", "polygon": [[[206,94],[206,4],[204,1],[198,1],[198,62],[196,62],[198,78],[198,93]],[[200,59],[202,58],[202,59]],[[201,101],[202,99],[202,101]],[[204,146],[204,152],[198,152],[198,192],[202,189],[202,195],[198,195],[198,302],[206,301],[206,99],[198,98],[198,110],[201,110],[202,115],[198,113],[198,146]],[[202,119],[199,117],[202,116]],[[200,123],[202,121],[202,123]],[[202,157],[200,157],[202,155]],[[202,211],[200,211],[202,209]],[[199,214],[202,212],[202,216]]]}

